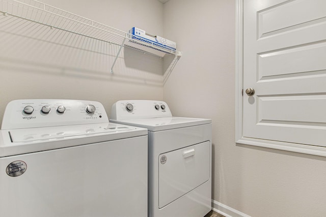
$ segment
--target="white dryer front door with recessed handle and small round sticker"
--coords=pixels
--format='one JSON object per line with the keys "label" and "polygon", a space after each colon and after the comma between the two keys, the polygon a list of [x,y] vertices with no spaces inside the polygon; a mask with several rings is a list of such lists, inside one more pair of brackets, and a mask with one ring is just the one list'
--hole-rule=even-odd
{"label": "white dryer front door with recessed handle and small round sticker", "polygon": [[209,180],[209,141],[160,154],[158,208]]}

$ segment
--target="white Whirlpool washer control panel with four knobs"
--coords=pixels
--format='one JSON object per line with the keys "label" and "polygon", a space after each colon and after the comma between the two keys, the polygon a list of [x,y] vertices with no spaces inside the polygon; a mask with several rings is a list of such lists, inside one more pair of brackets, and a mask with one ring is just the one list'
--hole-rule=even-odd
{"label": "white Whirlpool washer control panel with four knobs", "polygon": [[108,122],[100,102],[68,99],[21,99],[8,103],[1,129]]}

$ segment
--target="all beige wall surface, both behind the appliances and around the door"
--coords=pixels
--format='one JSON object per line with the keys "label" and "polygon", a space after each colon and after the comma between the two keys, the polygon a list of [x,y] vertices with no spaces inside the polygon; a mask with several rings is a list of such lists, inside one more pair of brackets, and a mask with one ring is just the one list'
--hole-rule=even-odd
{"label": "all beige wall surface, both behind the appliances and around the door", "polygon": [[214,201],[251,216],[326,215],[324,157],[234,142],[235,1],[43,1],[121,30],[138,26],[162,34],[183,56],[162,86],[157,58],[124,50],[110,74],[116,46],[73,38],[104,50],[94,53],[36,40],[29,30],[14,28],[13,35],[2,29],[0,121],[6,104],[19,98],[96,100],[108,113],[119,99],[165,100],[175,116],[213,121]]}

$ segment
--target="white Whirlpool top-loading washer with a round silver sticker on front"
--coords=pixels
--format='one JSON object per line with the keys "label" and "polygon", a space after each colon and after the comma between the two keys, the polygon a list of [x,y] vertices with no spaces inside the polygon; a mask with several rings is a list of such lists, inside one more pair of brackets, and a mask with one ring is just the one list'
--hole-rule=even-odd
{"label": "white Whirlpool top-loading washer with a round silver sticker on front", "polygon": [[101,103],[10,102],[0,133],[0,216],[147,215],[147,129]]}

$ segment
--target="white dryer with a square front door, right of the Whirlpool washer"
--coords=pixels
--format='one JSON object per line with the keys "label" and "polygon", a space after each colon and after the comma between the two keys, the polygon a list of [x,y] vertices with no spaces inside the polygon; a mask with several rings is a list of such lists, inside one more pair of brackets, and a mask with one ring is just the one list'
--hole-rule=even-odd
{"label": "white dryer with a square front door, right of the Whirlpool washer", "polygon": [[173,117],[163,101],[122,100],[110,121],[148,129],[149,216],[211,210],[211,119]]}

